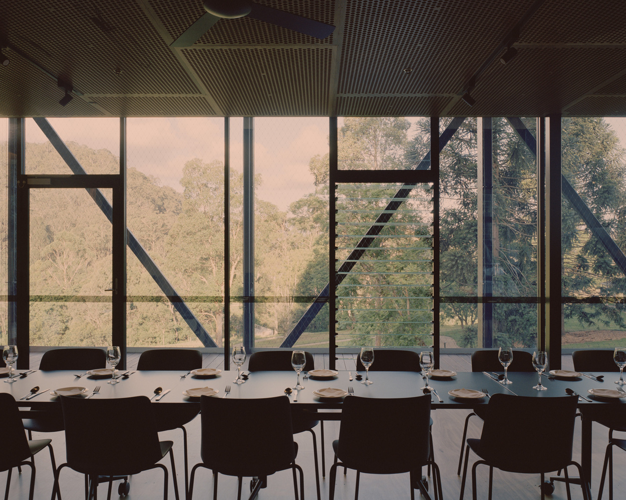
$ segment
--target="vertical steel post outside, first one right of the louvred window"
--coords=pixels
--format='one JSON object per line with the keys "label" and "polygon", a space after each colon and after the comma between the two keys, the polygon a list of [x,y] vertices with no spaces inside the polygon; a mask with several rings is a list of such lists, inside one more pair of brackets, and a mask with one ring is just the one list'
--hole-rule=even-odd
{"label": "vertical steel post outside, first one right of the louvred window", "polygon": [[[493,297],[493,119],[478,118],[478,297]],[[493,347],[493,303],[478,302],[478,346]],[[480,341],[482,339],[482,342]]]}

